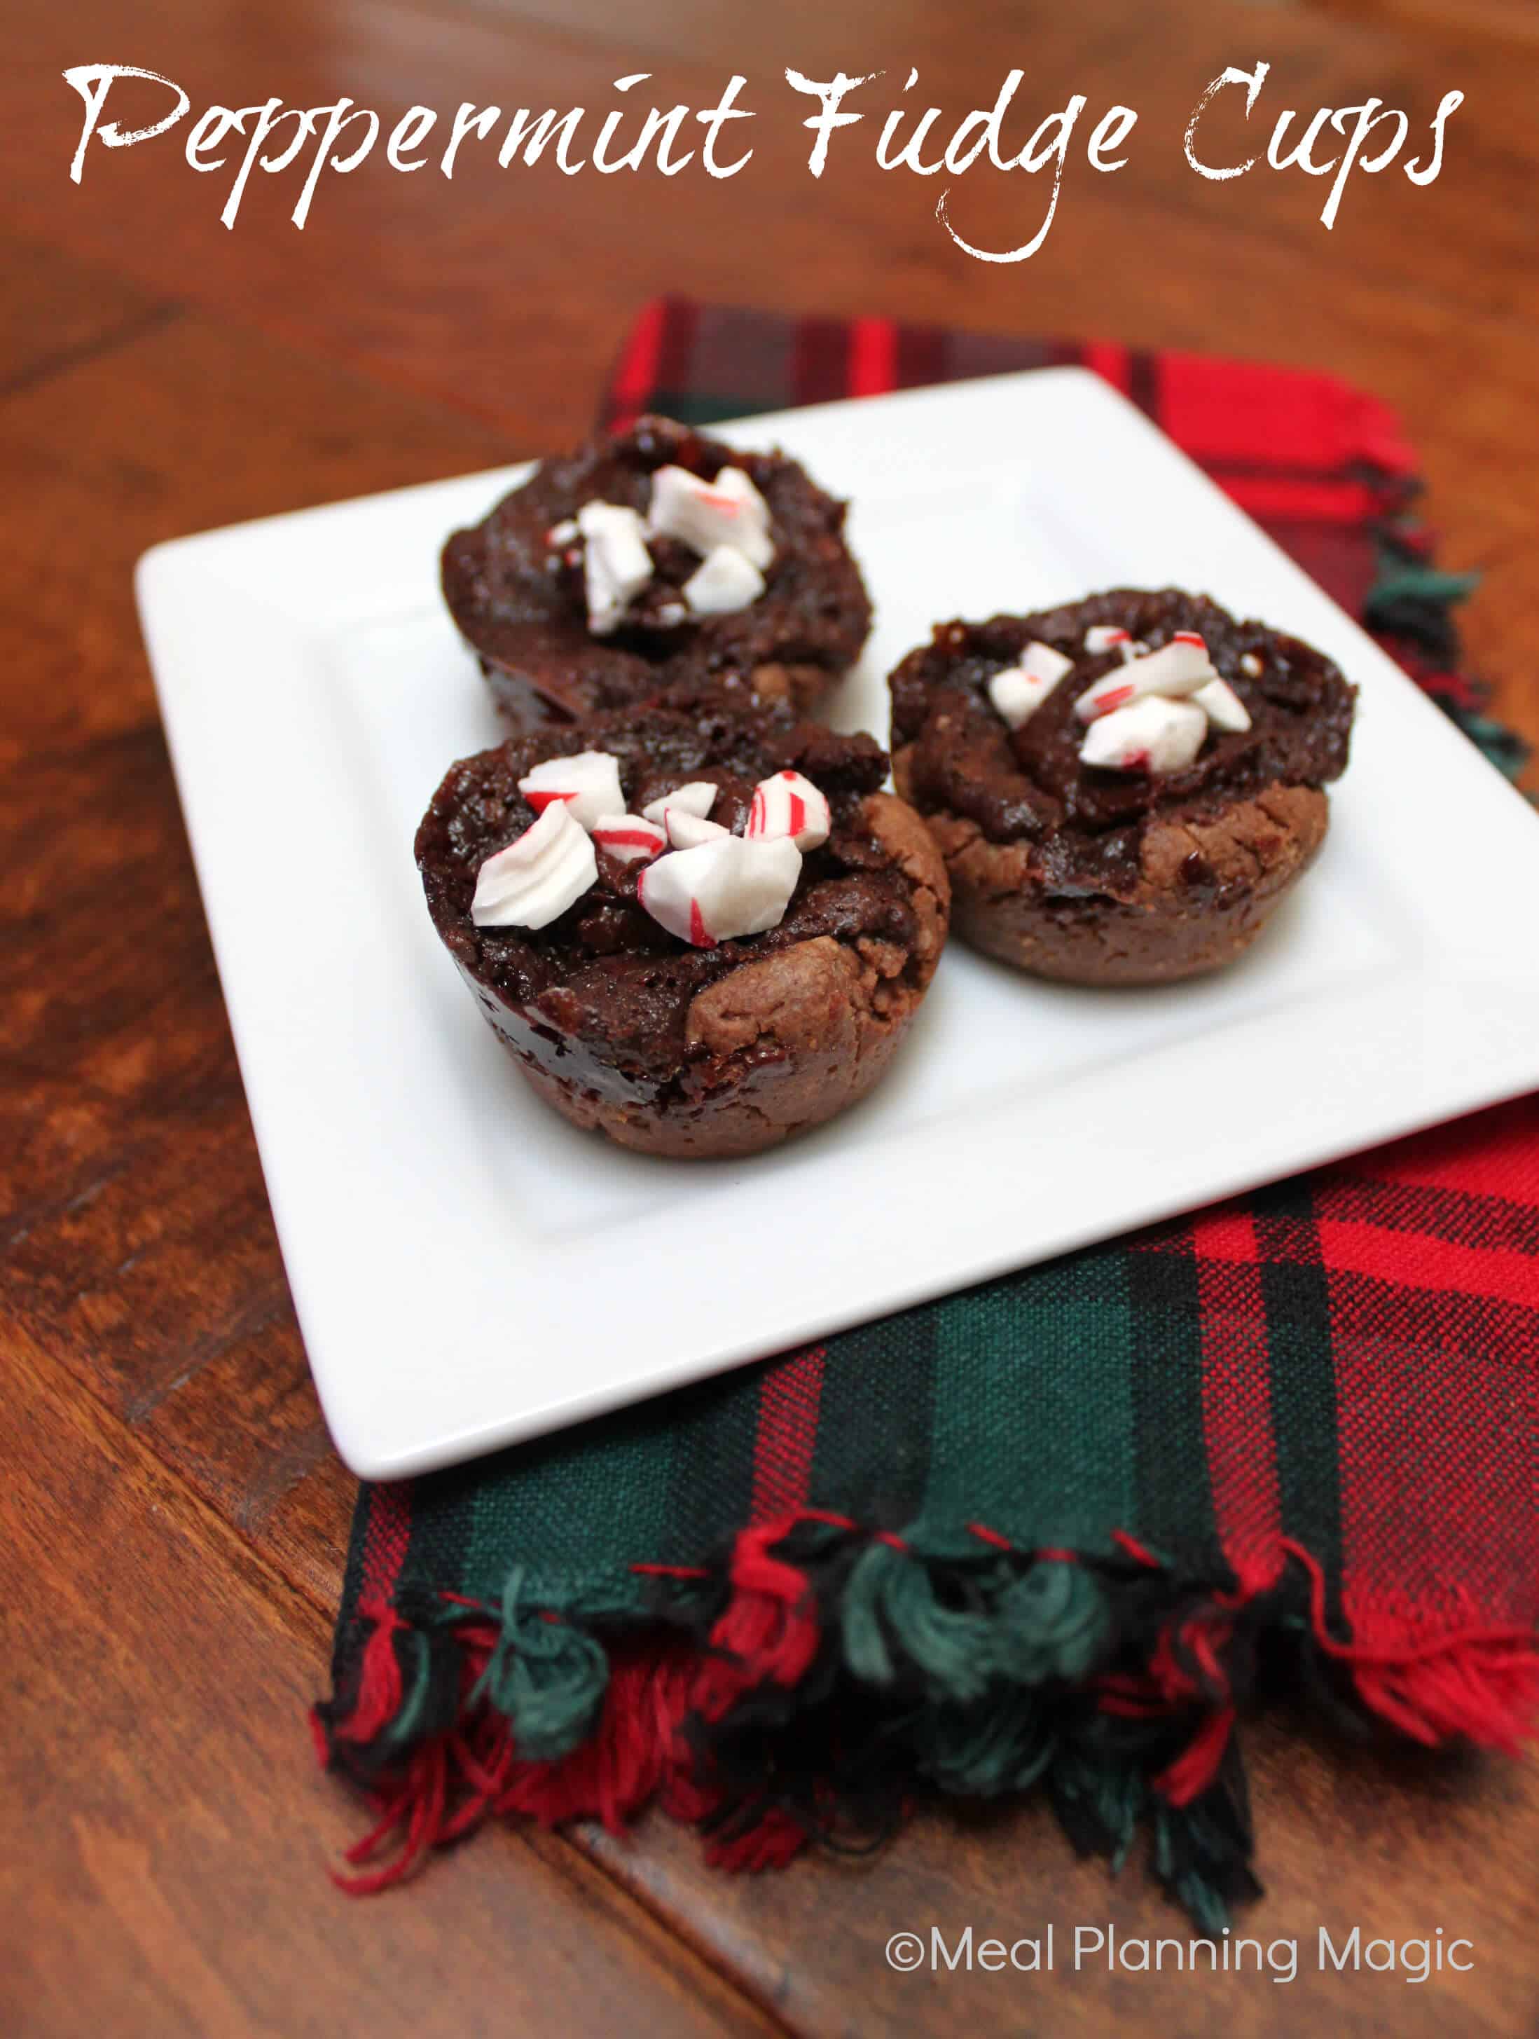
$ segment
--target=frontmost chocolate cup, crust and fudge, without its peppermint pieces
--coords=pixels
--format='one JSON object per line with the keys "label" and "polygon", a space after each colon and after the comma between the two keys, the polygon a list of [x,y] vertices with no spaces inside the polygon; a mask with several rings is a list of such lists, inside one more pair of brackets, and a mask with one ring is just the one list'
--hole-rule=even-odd
{"label": "frontmost chocolate cup, crust and fudge, without its peppermint pieces", "polygon": [[[707,779],[742,826],[756,781],[801,771],[830,801],[766,934],[689,948],[638,903],[640,867],[599,856],[597,885],[550,926],[477,928],[481,862],[534,820],[532,765],[609,750],[638,812]],[[821,1123],[881,1077],[934,975],[950,887],[917,816],[879,787],[887,756],[789,716],[691,701],[516,736],[450,767],[416,856],[438,934],[483,1017],[569,1119],[650,1154],[752,1154]]]}

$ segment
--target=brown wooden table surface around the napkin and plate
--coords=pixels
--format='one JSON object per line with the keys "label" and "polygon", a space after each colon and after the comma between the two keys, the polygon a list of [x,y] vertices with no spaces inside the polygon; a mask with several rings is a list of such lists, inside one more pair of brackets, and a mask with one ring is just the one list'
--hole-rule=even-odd
{"label": "brown wooden table surface around the napkin and plate", "polygon": [[[1313,179],[1195,177],[1188,108],[1258,55],[1270,110],[1376,92],[1421,126],[1462,88],[1445,173],[1358,179],[1331,234]],[[16,10],[6,57],[4,2029],[1531,2031],[1535,1766],[1282,1729],[1254,1737],[1270,1898],[1248,1929],[1305,1941],[1286,1988],[1076,1976],[1062,1957],[1046,1978],[891,1972],[899,1927],[1182,1931],[1137,1872],[1076,1866],[1036,1809],[925,1821],[877,1864],[779,1878],[707,1874],[691,1837],[650,1821],[624,1845],[487,1833],[371,1904],[330,1888],[359,1809],[312,1768],[304,1709],[353,1482],[310,1391],[130,606],[130,565],[159,538],[563,445],[636,308],[691,290],[1356,377],[1413,422],[1445,561],[1488,577],[1472,661],[1535,734],[1529,16],[1513,0],[972,18],[930,0],[626,16],[601,0],[77,0]],[[302,234],[291,184],[267,177],[224,230],[228,173],[194,173],[179,135],[96,147],[67,179],[79,100],[59,71],[98,57],[175,77],[194,112],[340,92],[391,118],[607,106],[632,71],[656,73],[665,104],[707,106],[738,69],[742,102],[775,118],[732,181],[373,165],[328,177]],[[1135,104],[1139,149],[1115,177],[1080,159],[1042,255],[985,265],[936,226],[934,184],[881,175],[868,145],[807,177],[787,63],[885,65],[893,86],[917,65],[919,96],[956,114],[1021,63],[1044,110],[1070,90]],[[1219,110],[1207,133],[1239,128]],[[1036,230],[1044,202],[1040,181],[997,175],[962,198],[960,224],[993,247]],[[1394,1939],[1441,1925],[1474,1939],[1476,1968],[1423,1988],[1319,1976],[1323,1921]]]}

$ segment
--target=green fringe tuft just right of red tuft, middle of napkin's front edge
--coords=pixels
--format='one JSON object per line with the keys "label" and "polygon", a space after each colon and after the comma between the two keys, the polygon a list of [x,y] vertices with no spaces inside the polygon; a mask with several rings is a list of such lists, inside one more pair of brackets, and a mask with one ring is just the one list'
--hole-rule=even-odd
{"label": "green fringe tuft just right of red tuft, middle of napkin's front edge", "polygon": [[895,1650],[944,1698],[966,1705],[989,1684],[989,1615],[942,1605],[930,1566],[907,1550],[872,1544],[856,1560],[842,1621],[844,1660],[866,1684],[897,1678]]}

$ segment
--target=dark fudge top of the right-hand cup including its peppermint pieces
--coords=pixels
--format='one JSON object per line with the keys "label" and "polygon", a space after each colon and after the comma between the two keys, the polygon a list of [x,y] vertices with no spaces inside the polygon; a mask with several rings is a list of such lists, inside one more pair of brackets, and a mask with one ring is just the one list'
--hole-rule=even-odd
{"label": "dark fudge top of the right-hand cup including its peppermint pieces", "polygon": [[1131,895],[1156,814],[1203,822],[1268,785],[1337,779],[1351,710],[1321,652],[1180,589],[940,624],[893,673],[919,812],[1036,844],[1064,897]]}

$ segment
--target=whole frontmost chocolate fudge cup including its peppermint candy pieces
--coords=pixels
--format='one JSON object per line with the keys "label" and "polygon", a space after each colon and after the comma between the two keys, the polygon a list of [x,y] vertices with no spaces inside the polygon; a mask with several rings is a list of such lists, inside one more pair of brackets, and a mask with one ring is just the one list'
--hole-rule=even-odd
{"label": "whole frontmost chocolate fudge cup including its peppermint candy pieces", "polygon": [[887,754],[720,701],[526,732],[448,771],[428,909],[483,1017],[581,1128],[754,1154],[881,1079],[946,940]]}

